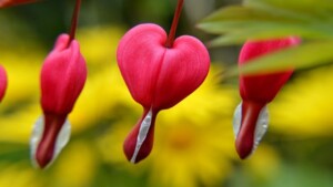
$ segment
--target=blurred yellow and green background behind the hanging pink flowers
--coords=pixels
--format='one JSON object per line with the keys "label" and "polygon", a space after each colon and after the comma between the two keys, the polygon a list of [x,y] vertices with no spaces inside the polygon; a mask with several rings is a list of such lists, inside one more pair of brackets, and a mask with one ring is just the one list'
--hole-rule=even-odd
{"label": "blurred yellow and green background behind the hanging pink flowers", "polygon": [[[56,38],[67,32],[73,0],[42,0],[0,9],[0,63],[9,87],[0,105],[1,187],[331,187],[333,186],[333,67],[296,71],[269,104],[270,127],[254,155],[240,160],[232,118],[240,103],[239,45],[210,49],[203,85],[157,120],[152,154],[138,165],[122,153],[127,133],[142,115],[115,61],[131,27],[154,22],[167,31],[175,0],[84,0],[78,40],[89,75],[69,118],[72,136],[49,168],[31,165],[29,138],[41,115],[39,71]],[[235,0],[186,0],[178,34],[204,43],[195,24]]]}

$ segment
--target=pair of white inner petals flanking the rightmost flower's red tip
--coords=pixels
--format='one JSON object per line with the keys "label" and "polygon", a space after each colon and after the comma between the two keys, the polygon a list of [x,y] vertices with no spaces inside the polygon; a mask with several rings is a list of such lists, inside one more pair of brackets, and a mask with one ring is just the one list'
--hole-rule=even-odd
{"label": "pair of white inner petals flanking the rightmost flower's red tip", "polygon": [[[234,115],[233,115],[233,134],[234,134],[235,138],[238,137],[238,134],[241,129],[241,121],[242,121],[242,103],[240,103],[236,106],[236,108],[234,111]],[[264,106],[260,111],[259,117],[258,117],[258,121],[255,124],[252,152],[254,152],[255,148],[258,147],[260,141],[266,133],[268,127],[269,127],[269,111],[268,111],[268,107]]]}

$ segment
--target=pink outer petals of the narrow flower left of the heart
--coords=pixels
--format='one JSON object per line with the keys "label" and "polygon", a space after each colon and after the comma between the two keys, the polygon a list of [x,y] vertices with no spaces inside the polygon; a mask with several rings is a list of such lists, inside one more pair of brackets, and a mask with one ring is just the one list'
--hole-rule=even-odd
{"label": "pink outer petals of the narrow flower left of the heart", "polygon": [[61,34],[41,70],[41,105],[46,113],[68,114],[81,93],[87,65],[79,43]]}

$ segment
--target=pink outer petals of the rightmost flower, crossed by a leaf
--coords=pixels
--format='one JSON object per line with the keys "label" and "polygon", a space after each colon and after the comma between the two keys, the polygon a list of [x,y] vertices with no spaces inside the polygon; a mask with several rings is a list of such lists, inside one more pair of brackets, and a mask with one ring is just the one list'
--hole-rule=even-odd
{"label": "pink outer petals of the rightmost flower, crossed by a leaf", "polygon": [[[239,65],[243,65],[250,60],[259,58],[265,53],[297,45],[300,42],[300,39],[295,37],[259,42],[249,41],[241,50]],[[256,102],[271,102],[283,84],[289,80],[292,72],[293,70],[260,75],[241,75],[240,93],[242,98]]]}

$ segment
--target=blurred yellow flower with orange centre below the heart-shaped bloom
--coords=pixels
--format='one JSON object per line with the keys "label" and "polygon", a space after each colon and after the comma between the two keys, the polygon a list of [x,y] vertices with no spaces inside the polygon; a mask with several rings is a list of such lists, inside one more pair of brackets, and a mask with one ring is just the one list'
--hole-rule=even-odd
{"label": "blurred yellow flower with orange centre below the heart-shaped bloom", "polygon": [[[235,92],[220,87],[213,79],[214,72],[213,67],[198,91],[159,114],[153,152],[138,166],[149,169],[152,186],[211,186],[231,172],[235,155],[230,108],[235,105]],[[122,143],[134,123],[118,122],[100,141],[105,159],[132,170],[137,166],[130,166],[125,159]]]}

